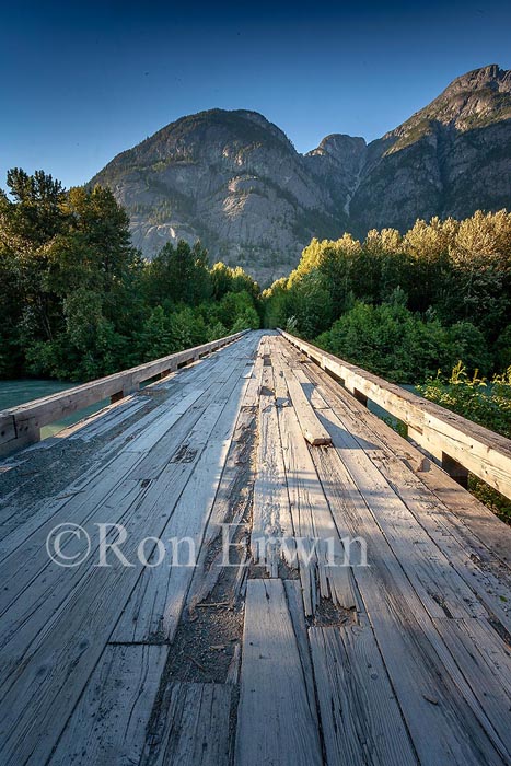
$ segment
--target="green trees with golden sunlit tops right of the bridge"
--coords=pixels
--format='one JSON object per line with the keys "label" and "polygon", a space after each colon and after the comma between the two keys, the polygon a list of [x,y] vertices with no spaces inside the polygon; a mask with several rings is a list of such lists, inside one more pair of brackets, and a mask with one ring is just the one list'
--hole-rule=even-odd
{"label": "green trees with golden sunlit tops right of the bridge", "polygon": [[501,372],[511,363],[511,213],[313,240],[263,295],[267,325],[398,383],[460,359]]}

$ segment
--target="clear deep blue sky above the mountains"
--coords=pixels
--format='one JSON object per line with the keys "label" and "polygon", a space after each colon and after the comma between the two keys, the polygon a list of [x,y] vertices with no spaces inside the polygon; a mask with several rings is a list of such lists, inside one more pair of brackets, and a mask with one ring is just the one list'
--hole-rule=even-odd
{"label": "clear deep blue sky above the mountains", "polygon": [[178,117],[249,108],[299,151],[371,140],[487,63],[511,68],[509,2],[0,0],[0,186],[67,186]]}

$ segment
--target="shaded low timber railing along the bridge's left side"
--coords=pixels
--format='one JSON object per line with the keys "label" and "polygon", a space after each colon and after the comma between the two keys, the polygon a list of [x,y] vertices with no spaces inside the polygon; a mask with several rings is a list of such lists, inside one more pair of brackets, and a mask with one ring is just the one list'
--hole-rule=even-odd
{"label": "shaded low timber railing along the bridge's left side", "polygon": [[83,383],[74,388],[4,409],[0,413],[0,455],[10,454],[27,444],[39,441],[43,426],[60,420],[108,397],[112,403],[117,402],[138,391],[140,383],[152,378],[165,378],[179,367],[237,340],[245,333],[246,330],[235,333],[202,346],[195,346],[177,353],[171,353],[169,357],[139,364],[130,370],[100,378],[91,383]]}

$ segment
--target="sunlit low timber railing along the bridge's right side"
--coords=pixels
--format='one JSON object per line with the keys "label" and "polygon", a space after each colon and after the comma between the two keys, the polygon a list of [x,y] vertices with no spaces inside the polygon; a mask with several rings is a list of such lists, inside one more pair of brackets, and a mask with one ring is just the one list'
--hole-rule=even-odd
{"label": "sunlit low timber railing along the bridge's right side", "polygon": [[511,498],[511,440],[387,383],[355,364],[279,330],[300,351],[339,380],[357,398],[383,407],[408,428],[408,437],[466,486],[468,472]]}

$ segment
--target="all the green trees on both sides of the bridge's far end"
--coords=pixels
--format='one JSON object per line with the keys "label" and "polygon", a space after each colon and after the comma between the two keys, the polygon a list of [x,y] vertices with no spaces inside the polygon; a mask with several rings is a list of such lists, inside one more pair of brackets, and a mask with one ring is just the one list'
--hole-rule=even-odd
{"label": "all the green trees on both sides of the bridge's far end", "polygon": [[85,381],[237,329],[286,327],[398,383],[511,362],[511,213],[313,240],[263,293],[197,243],[148,262],[112,192],[43,171],[0,190],[0,378]]}

